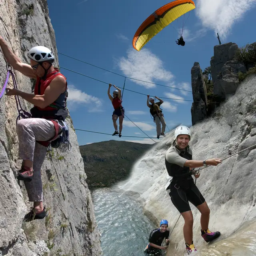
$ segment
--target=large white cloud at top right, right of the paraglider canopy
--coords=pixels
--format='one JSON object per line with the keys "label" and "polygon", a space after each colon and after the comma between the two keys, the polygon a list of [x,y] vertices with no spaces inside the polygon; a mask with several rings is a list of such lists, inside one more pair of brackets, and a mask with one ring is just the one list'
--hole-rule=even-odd
{"label": "large white cloud at top right, right of the paraglider canopy", "polygon": [[254,7],[255,0],[197,0],[196,14],[204,27],[225,38],[237,17]]}

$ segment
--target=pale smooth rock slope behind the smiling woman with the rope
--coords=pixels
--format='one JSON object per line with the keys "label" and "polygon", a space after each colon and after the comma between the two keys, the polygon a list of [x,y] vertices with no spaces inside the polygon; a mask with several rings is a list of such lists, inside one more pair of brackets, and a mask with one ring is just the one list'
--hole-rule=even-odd
{"label": "pale smooth rock slope behind the smiling woman with the rope", "polygon": [[[211,117],[192,126],[190,147],[194,160],[223,159],[256,144],[255,84],[256,75],[248,76]],[[144,213],[157,225],[161,219],[167,219],[170,230],[180,216],[165,190],[167,171],[164,155],[173,140],[174,131],[142,156],[134,165],[129,179],[116,188],[138,198]],[[239,241],[244,237],[247,242],[239,242],[238,248],[233,244],[238,251],[231,246],[219,246],[223,253],[216,250],[218,244],[224,244],[223,239],[230,237],[247,221],[256,220],[255,164],[256,147],[201,171],[196,185],[211,211],[210,230],[219,230],[222,235],[214,244],[206,244],[200,233],[200,212],[190,204],[194,216],[194,244],[199,255],[236,255],[238,251],[241,255],[255,254],[247,246],[247,238],[256,237],[255,228],[250,229],[249,237],[240,237]],[[183,224],[181,217],[170,236],[171,244],[166,255],[184,255]],[[200,254],[202,248],[213,253]]]}

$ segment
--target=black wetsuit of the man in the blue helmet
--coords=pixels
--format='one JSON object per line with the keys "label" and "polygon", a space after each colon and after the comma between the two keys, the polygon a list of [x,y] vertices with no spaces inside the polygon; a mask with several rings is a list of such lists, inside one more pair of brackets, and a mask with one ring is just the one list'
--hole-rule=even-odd
{"label": "black wetsuit of the man in the blue helmet", "polygon": [[[165,232],[161,232],[160,228],[156,228],[150,232],[148,242],[161,246],[164,238],[168,239],[168,237],[169,237],[169,230],[166,230]],[[151,255],[162,255],[161,249],[150,246],[149,244],[148,244],[148,249],[146,249],[145,252]]]}

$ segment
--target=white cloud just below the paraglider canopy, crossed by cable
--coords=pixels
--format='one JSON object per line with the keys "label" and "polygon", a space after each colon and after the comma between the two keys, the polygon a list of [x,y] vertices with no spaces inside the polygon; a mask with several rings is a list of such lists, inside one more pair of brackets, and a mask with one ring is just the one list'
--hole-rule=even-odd
{"label": "white cloud just below the paraglider canopy, crossed by cable", "polygon": [[[117,65],[125,76],[152,83],[156,80],[168,82],[174,77],[170,71],[164,69],[162,60],[148,49],[143,49],[140,52],[129,49],[127,58],[120,58],[117,61]],[[154,84],[133,81],[146,88],[156,87]]]}

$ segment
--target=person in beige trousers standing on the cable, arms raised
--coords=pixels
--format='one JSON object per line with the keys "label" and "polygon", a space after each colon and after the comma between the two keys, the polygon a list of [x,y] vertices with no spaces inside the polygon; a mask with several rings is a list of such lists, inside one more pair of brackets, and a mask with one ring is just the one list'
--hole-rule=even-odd
{"label": "person in beige trousers standing on the cable, arms raised", "polygon": [[[154,122],[156,123],[156,136],[159,139],[160,135],[165,137],[165,128],[166,128],[166,122],[164,120],[164,114],[162,113],[162,110],[160,109],[160,105],[164,102],[160,98],[156,97],[156,99],[159,100],[159,102],[155,103],[155,100],[153,97],[147,99],[147,106],[150,108],[150,114],[154,118]],[[149,101],[151,104],[149,104]],[[161,124],[162,124],[162,131],[161,131]]]}

